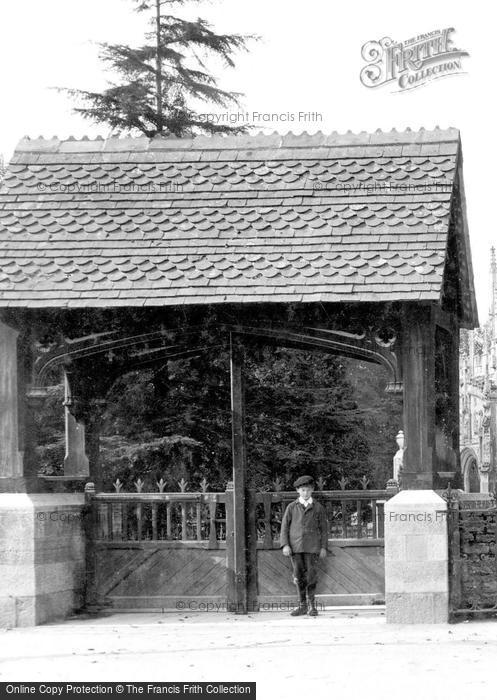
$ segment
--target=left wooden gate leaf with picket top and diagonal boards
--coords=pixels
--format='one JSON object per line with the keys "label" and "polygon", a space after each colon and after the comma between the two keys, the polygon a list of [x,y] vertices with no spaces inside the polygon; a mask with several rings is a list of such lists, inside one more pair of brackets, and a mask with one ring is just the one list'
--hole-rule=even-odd
{"label": "left wooden gate leaf with picket top and diagonal boards", "polygon": [[232,492],[90,494],[89,604],[115,610],[225,606],[230,498]]}

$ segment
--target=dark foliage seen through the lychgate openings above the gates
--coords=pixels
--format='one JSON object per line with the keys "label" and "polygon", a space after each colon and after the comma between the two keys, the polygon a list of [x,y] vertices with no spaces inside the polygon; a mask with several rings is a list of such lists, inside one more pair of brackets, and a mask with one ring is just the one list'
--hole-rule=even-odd
{"label": "dark foliage seen through the lychgate openings above the gates", "polygon": [[[348,488],[358,488],[363,476],[370,487],[384,487],[400,403],[384,394],[381,368],[262,347],[247,353],[245,384],[251,485],[268,488],[280,478],[290,487],[305,472],[327,488],[338,488],[342,476]],[[39,420],[46,473],[63,457],[61,399],[54,390]],[[178,490],[181,479],[198,489],[205,478],[209,488],[224,489],[232,469],[228,352],[123,375],[108,394],[102,428],[106,488],[119,478],[133,489],[141,478],[155,490],[164,478],[167,490]]]}

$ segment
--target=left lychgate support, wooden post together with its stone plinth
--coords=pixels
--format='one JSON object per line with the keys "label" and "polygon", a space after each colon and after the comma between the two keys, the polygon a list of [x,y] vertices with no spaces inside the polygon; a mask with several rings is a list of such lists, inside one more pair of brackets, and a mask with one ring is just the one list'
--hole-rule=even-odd
{"label": "left lychgate support, wooden post together with its stone plinth", "polygon": [[83,494],[43,494],[30,345],[0,321],[0,627],[37,625],[78,609],[85,585]]}

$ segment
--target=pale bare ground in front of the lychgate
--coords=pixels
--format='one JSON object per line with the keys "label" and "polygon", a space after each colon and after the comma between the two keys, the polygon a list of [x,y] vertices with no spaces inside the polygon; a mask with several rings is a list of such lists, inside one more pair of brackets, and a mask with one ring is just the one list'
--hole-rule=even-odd
{"label": "pale bare ground in front of the lychgate", "polygon": [[257,681],[259,700],[487,700],[497,620],[387,625],[379,609],[314,619],[130,613],[1,630],[0,649],[0,681]]}

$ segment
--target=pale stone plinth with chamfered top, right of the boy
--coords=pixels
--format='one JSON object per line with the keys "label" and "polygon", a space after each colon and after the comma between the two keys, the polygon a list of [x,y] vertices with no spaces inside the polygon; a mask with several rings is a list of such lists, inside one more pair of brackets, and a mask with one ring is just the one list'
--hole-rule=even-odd
{"label": "pale stone plinth with chamfered top, right of the boy", "polygon": [[390,623],[448,622],[447,504],[434,491],[385,504],[385,602]]}

